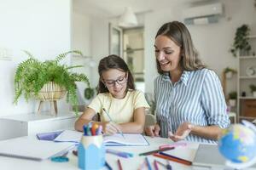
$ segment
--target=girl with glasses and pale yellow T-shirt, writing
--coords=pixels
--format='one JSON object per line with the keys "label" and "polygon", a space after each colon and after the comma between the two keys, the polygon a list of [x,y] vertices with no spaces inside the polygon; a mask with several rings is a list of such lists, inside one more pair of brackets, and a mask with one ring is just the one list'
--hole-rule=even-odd
{"label": "girl with glasses and pale yellow T-shirt, writing", "polygon": [[[133,77],[125,61],[117,55],[101,59],[98,94],[75,122],[75,129],[83,131],[84,124],[92,122],[99,113],[103,133],[143,133],[145,108],[149,105],[144,94],[135,90]],[[104,111],[105,110],[105,111]]]}

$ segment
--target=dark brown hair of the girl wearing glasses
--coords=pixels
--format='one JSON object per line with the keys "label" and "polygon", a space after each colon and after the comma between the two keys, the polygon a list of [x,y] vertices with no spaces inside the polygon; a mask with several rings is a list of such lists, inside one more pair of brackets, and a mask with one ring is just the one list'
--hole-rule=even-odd
{"label": "dark brown hair of the girl wearing glasses", "polygon": [[102,80],[102,72],[108,71],[109,69],[117,69],[119,71],[124,71],[126,74],[128,74],[128,80],[127,80],[127,90],[128,89],[135,89],[134,80],[131,75],[131,71],[128,68],[128,65],[126,65],[124,59],[120,58],[117,55],[108,55],[107,57],[104,57],[100,60],[99,66],[98,66],[98,72],[99,72],[99,83],[97,87],[97,93],[107,93],[108,88],[105,86],[105,84],[101,81]]}

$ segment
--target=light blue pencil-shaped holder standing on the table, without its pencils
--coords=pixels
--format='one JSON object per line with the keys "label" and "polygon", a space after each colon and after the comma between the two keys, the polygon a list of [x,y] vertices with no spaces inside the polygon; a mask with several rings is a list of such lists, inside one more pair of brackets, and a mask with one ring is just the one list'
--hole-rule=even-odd
{"label": "light blue pencil-shaped holder standing on the table, without its pencils", "polygon": [[102,135],[83,136],[79,144],[79,168],[101,169],[105,165],[105,152]]}

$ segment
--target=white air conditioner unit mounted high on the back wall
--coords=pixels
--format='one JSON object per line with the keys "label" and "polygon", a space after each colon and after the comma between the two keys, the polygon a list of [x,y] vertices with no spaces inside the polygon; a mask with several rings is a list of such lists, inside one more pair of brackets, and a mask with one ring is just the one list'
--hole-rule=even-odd
{"label": "white air conditioner unit mounted high on the back wall", "polygon": [[216,23],[221,14],[223,14],[222,3],[212,3],[184,9],[183,20],[187,25]]}

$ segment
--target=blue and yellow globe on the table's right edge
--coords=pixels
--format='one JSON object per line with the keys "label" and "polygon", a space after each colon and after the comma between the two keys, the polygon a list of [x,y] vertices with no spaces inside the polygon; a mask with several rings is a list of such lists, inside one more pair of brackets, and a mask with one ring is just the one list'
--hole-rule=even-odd
{"label": "blue and yellow globe on the table's right edge", "polygon": [[256,127],[251,122],[242,121],[224,129],[218,150],[226,158],[228,167],[252,166],[256,162]]}

